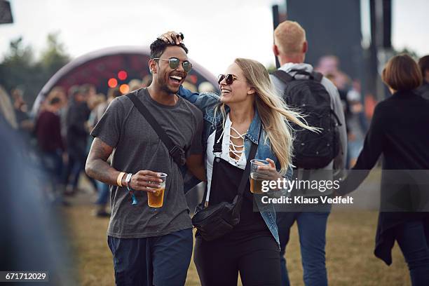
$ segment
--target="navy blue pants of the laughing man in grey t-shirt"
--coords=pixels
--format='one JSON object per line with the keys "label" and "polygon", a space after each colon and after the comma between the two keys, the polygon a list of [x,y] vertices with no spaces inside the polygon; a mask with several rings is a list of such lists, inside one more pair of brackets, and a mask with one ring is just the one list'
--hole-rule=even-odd
{"label": "navy blue pants of the laughing man in grey t-shirt", "polygon": [[192,229],[150,238],[107,238],[116,285],[184,285],[192,255]]}

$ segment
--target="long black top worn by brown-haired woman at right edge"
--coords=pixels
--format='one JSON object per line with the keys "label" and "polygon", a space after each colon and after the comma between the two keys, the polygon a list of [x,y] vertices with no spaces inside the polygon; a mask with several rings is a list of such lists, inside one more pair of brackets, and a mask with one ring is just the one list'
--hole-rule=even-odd
{"label": "long black top worn by brown-haired woman at right edge", "polygon": [[[371,126],[357,163],[341,184],[339,194],[349,193],[359,186],[383,154],[381,202],[394,193],[401,197],[405,207],[411,208],[411,193],[421,189],[412,181],[415,170],[429,170],[429,101],[414,91],[397,92],[377,104]],[[363,170],[353,172],[353,170]],[[401,170],[401,171],[391,171]],[[410,171],[414,170],[414,171]],[[417,171],[419,172],[419,171]],[[427,185],[423,188],[428,188]],[[424,191],[424,190],[423,190]],[[428,190],[426,190],[427,192]],[[403,207],[402,205],[401,207]],[[383,209],[383,205],[381,206]],[[429,212],[380,212],[374,254],[386,264],[392,263],[391,249],[395,243],[395,226],[411,219],[424,219],[429,229]]]}

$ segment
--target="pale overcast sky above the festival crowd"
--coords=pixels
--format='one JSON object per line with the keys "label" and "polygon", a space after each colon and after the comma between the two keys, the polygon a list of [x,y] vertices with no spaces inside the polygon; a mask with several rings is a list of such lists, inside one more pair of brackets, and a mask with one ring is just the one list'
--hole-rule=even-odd
{"label": "pale overcast sky above the festival crowd", "polygon": [[[36,55],[60,32],[77,57],[110,46],[144,45],[170,29],[184,32],[189,57],[219,74],[235,57],[273,64],[271,5],[280,0],[10,0],[13,24],[0,25],[0,58],[23,36]],[[318,0],[314,0],[318,1]],[[345,0],[355,1],[355,0]],[[367,0],[365,0],[367,1]],[[369,1],[369,0],[368,0]],[[429,1],[393,0],[393,45],[429,54]]]}

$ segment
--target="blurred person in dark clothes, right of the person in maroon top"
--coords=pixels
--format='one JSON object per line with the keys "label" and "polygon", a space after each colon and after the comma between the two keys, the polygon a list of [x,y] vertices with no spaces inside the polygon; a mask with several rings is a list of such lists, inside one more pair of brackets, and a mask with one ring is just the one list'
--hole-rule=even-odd
{"label": "blurred person in dark clothes, right of the person in maroon top", "polygon": [[82,90],[79,87],[74,87],[71,90],[71,98],[69,98],[65,122],[68,154],[67,195],[74,195],[78,191],[79,175],[85,168],[88,138],[86,121],[90,115],[87,94],[86,88]]}

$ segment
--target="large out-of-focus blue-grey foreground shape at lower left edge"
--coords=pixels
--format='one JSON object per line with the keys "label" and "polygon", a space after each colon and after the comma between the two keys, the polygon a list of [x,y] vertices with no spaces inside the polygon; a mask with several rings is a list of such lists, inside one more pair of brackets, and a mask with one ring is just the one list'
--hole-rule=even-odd
{"label": "large out-of-focus blue-grey foreground shape at lower left edge", "polygon": [[61,216],[43,196],[43,174],[32,168],[20,135],[1,118],[0,138],[0,271],[48,271],[49,283],[30,285],[77,285]]}

